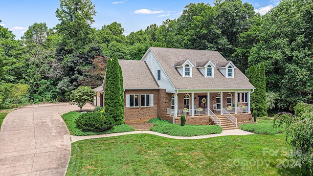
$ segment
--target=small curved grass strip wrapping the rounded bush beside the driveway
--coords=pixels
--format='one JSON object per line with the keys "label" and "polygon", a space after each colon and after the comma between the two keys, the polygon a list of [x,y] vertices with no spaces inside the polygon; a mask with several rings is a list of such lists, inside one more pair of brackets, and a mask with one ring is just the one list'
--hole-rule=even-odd
{"label": "small curved grass strip wrapping the rounded bush beside the driveway", "polygon": [[65,113],[62,115],[62,118],[64,122],[67,125],[67,129],[71,135],[76,136],[87,136],[87,135],[97,135],[97,134],[108,134],[108,133],[115,133],[115,132],[132,132],[134,131],[133,127],[130,127],[129,125],[122,124],[122,125],[116,125],[113,126],[112,129],[107,130],[105,132],[83,132],[80,130],[76,123],[75,119],[80,115],[79,112],[71,111],[68,113]]}

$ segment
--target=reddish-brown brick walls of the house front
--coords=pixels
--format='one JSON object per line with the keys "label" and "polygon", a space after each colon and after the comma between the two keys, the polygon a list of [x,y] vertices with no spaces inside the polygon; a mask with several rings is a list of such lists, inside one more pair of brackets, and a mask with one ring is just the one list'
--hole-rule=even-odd
{"label": "reddish-brown brick walls of the house front", "polygon": [[[139,107],[126,108],[126,95],[127,94],[139,94]],[[154,106],[153,107],[141,107],[140,95],[141,94],[154,94]],[[124,92],[124,106],[125,106],[125,123],[144,123],[152,118],[160,117],[161,119],[173,122],[173,115],[168,115],[167,108],[171,108],[171,97],[174,93],[166,93],[165,89],[159,90],[125,90]],[[183,99],[186,93],[178,94],[179,109],[183,109]],[[228,94],[228,93],[227,93]],[[227,104],[227,94],[223,94],[223,107]],[[189,93],[191,99],[191,93]],[[210,109],[213,111],[213,104],[216,104],[217,93],[210,93]],[[232,93],[234,97],[234,92]],[[199,96],[207,96],[207,93],[194,93],[194,105],[199,107]],[[214,100],[213,100],[214,96]],[[233,98],[233,103],[236,101]],[[247,106],[247,103],[243,104]],[[191,106],[191,103],[190,103]],[[252,118],[251,113],[232,114],[237,118],[238,122],[248,121]],[[175,123],[180,124],[180,117],[175,118]],[[208,116],[187,116],[188,124],[209,125],[213,124],[212,119]]]}

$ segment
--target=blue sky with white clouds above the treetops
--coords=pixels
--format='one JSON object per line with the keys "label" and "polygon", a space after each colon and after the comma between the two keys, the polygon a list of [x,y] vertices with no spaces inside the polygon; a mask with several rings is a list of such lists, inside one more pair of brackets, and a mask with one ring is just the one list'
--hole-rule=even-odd
{"label": "blue sky with white clouds above the treetops", "polygon": [[[242,0],[252,4],[261,15],[275,7],[280,0]],[[92,0],[97,11],[94,28],[112,22],[121,23],[125,35],[145,29],[150,24],[161,25],[166,19],[177,19],[189,3],[209,3],[214,0]],[[29,25],[45,22],[48,28],[59,21],[55,11],[59,0],[0,0],[0,25],[9,28],[20,39]]]}

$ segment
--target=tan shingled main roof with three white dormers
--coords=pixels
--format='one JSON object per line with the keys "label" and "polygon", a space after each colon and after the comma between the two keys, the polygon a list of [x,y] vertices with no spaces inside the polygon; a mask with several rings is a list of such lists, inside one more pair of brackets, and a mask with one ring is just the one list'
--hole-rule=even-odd
{"label": "tan shingled main roof with three white dormers", "polygon": [[[156,59],[163,67],[170,81],[175,88],[180,89],[236,89],[246,88],[253,89],[248,78],[237,68],[234,68],[234,78],[226,78],[224,75],[214,68],[214,78],[206,78],[201,72],[193,67],[192,77],[182,77],[176,68],[174,62],[186,61],[187,59],[195,64],[211,60],[212,63],[223,63],[225,66],[229,63],[218,51],[195,50],[195,49],[177,49],[150,47],[146,54],[151,51]],[[145,54],[145,55],[146,55]],[[141,61],[144,60],[144,57]],[[222,64],[221,64],[222,65]],[[222,66],[223,66],[222,65]]]}

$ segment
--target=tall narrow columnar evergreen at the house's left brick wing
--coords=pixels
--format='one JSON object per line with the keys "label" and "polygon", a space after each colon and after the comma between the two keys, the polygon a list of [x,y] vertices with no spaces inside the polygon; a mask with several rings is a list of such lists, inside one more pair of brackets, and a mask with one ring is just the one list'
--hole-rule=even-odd
{"label": "tall narrow columnar evergreen at the house's left brick wing", "polygon": [[114,119],[115,125],[124,124],[124,97],[121,95],[123,83],[121,82],[120,66],[117,57],[108,61],[105,82],[105,112]]}

